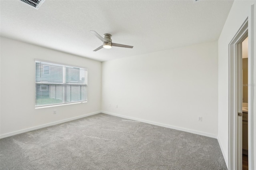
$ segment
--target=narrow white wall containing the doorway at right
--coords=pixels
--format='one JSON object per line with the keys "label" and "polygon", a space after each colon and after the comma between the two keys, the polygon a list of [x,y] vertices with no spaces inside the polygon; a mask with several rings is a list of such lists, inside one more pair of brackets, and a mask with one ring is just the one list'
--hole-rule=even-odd
{"label": "narrow white wall containing the doorway at right", "polygon": [[[255,0],[235,0],[218,40],[218,141],[228,165],[228,44],[250,14]],[[256,12],[256,11],[255,11]],[[256,15],[254,13],[254,18]],[[254,28],[256,28],[254,23]],[[255,31],[254,31],[255,34]],[[254,43],[255,43],[254,39]],[[256,49],[256,48],[255,48]],[[255,56],[254,56],[255,58]],[[254,68],[256,65],[254,64]],[[255,103],[254,103],[255,106]],[[255,107],[254,107],[255,108]]]}

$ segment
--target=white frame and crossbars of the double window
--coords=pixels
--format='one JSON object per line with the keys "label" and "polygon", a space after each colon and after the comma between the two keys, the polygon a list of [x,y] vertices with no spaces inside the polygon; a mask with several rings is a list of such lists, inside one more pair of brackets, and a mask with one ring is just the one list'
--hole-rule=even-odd
{"label": "white frame and crossbars of the double window", "polygon": [[[36,63],[37,62],[45,62],[45,63],[49,63],[49,64],[53,64],[53,65],[60,65],[62,66],[64,69],[62,70],[62,73],[64,73],[65,77],[63,77],[63,80],[62,80],[62,83],[37,83],[36,82]],[[85,84],[76,84],[76,83],[66,83],[66,68],[67,67],[75,67],[75,68],[79,68],[79,69],[84,69],[85,70]],[[34,99],[34,106],[35,106],[35,109],[40,109],[40,108],[46,108],[46,107],[56,107],[56,106],[63,106],[63,105],[73,105],[73,104],[78,104],[78,103],[87,103],[88,101],[88,68],[87,67],[81,67],[81,66],[77,66],[77,65],[70,65],[70,64],[66,64],[66,63],[59,63],[59,62],[54,62],[54,61],[46,61],[46,60],[42,60],[42,59],[35,59],[35,76],[34,76],[34,81],[35,81],[35,84],[34,84],[34,96],[35,96],[35,99]],[[64,80],[65,79],[65,80]],[[65,81],[65,83],[64,83]],[[69,102],[62,102],[62,103],[52,103],[52,104],[46,104],[46,105],[36,105],[36,98],[37,98],[37,91],[36,91],[36,86],[37,85],[46,85],[48,84],[49,86],[50,85],[63,85],[63,89],[62,89],[62,94],[64,94],[64,89],[65,87],[68,88],[68,85],[70,85],[70,88],[71,88],[71,85],[80,85],[80,86],[84,86],[85,87],[85,100],[84,101],[69,101]],[[50,88],[50,87],[48,87]],[[81,87],[80,87],[81,88]],[[64,97],[64,95],[62,96],[62,100],[66,100],[67,96]]]}

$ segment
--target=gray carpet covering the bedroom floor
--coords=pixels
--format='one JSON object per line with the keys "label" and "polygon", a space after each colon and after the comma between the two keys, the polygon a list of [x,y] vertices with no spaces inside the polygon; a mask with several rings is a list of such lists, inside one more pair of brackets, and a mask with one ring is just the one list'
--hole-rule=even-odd
{"label": "gray carpet covering the bedroom floor", "polygon": [[97,114],[2,138],[1,170],[221,170],[218,141]]}

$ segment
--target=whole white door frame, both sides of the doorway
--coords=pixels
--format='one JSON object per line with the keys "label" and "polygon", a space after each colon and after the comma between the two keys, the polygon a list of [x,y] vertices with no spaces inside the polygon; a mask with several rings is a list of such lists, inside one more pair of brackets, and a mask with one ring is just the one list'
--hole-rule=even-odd
{"label": "whole white door frame, both sides of the doorway", "polygon": [[[254,139],[253,139],[253,56],[254,56],[254,5],[251,6],[250,16],[246,18],[238,32],[229,43],[229,99],[228,99],[228,169],[242,169],[242,142],[238,138],[241,132],[242,121],[238,119],[238,71],[241,69],[239,59],[242,59],[240,51],[241,42],[248,35],[248,166],[254,169]],[[239,65],[238,65],[239,64]],[[240,71],[241,72],[241,71]],[[240,124],[238,124],[240,123]],[[238,129],[240,127],[240,129]],[[240,141],[239,141],[240,140]],[[239,154],[239,155],[238,155]]]}

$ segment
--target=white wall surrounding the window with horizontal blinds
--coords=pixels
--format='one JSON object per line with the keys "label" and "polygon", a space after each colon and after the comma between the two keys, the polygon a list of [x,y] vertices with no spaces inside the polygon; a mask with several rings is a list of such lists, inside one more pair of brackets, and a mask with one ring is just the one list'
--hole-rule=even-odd
{"label": "white wall surrounding the window with horizontal blinds", "polygon": [[[87,67],[88,102],[35,109],[35,59]],[[1,136],[101,110],[99,61],[1,37],[0,70]]]}

